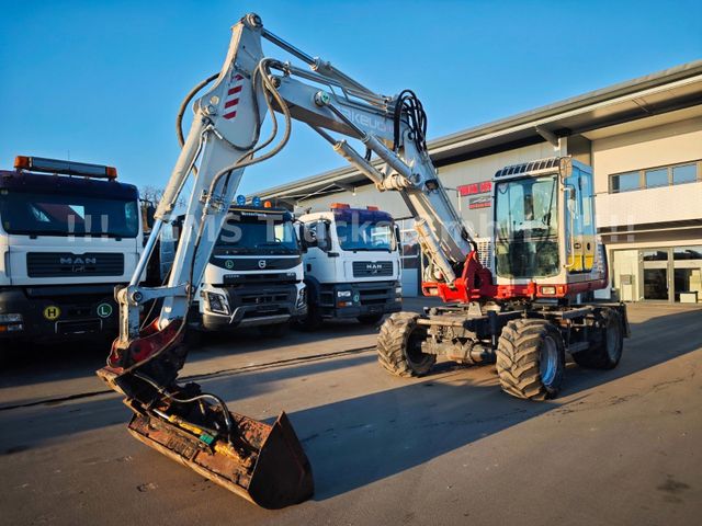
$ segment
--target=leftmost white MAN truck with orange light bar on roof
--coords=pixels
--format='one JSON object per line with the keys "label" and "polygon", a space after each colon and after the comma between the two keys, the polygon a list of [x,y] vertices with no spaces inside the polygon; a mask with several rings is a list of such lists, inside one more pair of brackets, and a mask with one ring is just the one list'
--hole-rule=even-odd
{"label": "leftmost white MAN truck with orange light bar on roof", "polygon": [[0,344],[114,339],[115,285],[143,250],[139,195],[113,167],[19,156],[0,171]]}

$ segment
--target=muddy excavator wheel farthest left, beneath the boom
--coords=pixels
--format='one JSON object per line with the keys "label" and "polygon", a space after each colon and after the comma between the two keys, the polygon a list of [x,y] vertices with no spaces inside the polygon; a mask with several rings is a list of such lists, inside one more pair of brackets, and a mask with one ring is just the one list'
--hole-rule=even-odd
{"label": "muddy excavator wheel farthest left, beneath the boom", "polygon": [[381,325],[377,361],[395,376],[423,376],[437,362],[434,354],[421,352],[427,330],[417,324],[419,315],[397,312]]}

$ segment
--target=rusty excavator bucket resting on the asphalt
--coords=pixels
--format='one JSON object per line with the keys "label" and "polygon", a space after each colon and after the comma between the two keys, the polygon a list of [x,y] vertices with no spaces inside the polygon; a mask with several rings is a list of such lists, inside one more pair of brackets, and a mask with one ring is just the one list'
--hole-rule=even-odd
{"label": "rusty excavator bucket resting on the asphalt", "polygon": [[[202,422],[147,410],[135,398],[134,384],[125,380],[129,376],[110,367],[97,373],[126,397],[124,403],[134,411],[127,428],[147,446],[261,507],[278,510],[313,495],[312,466],[284,412],[269,425],[228,411],[233,433],[227,443]],[[213,439],[203,439],[207,436]]]}

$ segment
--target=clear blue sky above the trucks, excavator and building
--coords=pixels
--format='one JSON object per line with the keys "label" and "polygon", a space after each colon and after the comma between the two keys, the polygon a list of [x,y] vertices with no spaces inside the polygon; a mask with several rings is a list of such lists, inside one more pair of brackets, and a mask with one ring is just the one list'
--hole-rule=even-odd
{"label": "clear blue sky above the trucks, excavator and building", "polygon": [[[140,187],[166,185],[178,107],[248,12],[380,93],[412,89],[429,139],[702,58],[699,0],[0,0],[0,169],[69,158]],[[297,123],[240,193],[342,165]]]}

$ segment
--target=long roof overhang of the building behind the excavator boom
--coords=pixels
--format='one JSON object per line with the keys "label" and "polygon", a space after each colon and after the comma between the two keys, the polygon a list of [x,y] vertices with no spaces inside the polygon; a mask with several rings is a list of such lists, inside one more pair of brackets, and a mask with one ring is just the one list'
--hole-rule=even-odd
{"label": "long roof overhang of the building behind the excavator boom", "polygon": [[[702,105],[702,60],[440,137],[428,148],[434,164],[442,167],[698,105]],[[295,202],[365,184],[370,181],[364,175],[347,167],[258,195]]]}

